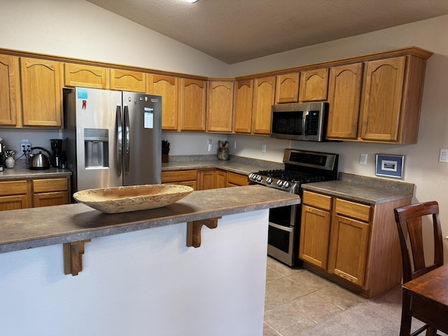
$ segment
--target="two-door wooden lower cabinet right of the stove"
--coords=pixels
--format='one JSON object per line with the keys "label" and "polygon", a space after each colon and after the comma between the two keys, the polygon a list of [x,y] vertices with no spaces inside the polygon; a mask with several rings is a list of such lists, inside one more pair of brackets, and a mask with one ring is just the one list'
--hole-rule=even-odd
{"label": "two-door wooden lower cabinet right of the stove", "polygon": [[393,209],[410,202],[363,204],[304,190],[299,251],[304,267],[366,297],[399,285]]}

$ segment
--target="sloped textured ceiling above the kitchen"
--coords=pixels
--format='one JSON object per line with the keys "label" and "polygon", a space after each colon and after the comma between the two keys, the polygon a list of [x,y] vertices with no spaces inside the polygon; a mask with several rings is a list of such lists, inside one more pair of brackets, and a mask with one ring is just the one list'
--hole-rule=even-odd
{"label": "sloped textured ceiling above the kitchen", "polygon": [[233,64],[448,14],[448,0],[87,0]]}

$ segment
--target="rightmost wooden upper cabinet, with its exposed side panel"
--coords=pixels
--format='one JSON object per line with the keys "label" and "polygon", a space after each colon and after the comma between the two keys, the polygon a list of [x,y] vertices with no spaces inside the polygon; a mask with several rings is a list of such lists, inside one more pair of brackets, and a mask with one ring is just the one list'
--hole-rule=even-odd
{"label": "rightmost wooden upper cabinet, with its exposed side panel", "polygon": [[401,56],[367,62],[365,67],[360,138],[415,143],[425,63]]}

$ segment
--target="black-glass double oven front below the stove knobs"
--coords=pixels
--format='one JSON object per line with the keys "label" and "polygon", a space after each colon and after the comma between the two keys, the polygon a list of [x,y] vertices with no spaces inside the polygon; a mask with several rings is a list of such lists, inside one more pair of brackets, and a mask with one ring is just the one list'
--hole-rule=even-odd
{"label": "black-glass double oven front below the stove knobs", "polygon": [[289,266],[297,260],[297,205],[269,210],[267,254]]}

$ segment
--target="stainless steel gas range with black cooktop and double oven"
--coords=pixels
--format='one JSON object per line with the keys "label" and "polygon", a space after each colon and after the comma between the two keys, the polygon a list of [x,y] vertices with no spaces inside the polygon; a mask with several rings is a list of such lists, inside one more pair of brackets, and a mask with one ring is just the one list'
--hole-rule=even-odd
{"label": "stainless steel gas range with black cooktop and double oven", "polygon": [[[260,170],[248,175],[252,184],[295,193],[302,197],[302,184],[337,179],[339,155],[286,148],[285,169]],[[300,265],[301,204],[269,210],[267,254],[289,266]]]}

